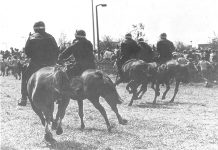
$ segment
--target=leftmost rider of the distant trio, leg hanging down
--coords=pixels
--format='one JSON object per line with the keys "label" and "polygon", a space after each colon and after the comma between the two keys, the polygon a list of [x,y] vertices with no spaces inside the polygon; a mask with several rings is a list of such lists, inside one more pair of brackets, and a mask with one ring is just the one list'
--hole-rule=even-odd
{"label": "leftmost rider of the distant trio, leg hanging down", "polygon": [[118,80],[116,81],[116,85],[121,82],[124,82],[124,75],[122,73],[122,65],[130,60],[137,58],[137,54],[139,52],[139,46],[136,41],[132,39],[132,35],[130,33],[125,35],[125,41],[121,43],[121,52],[120,58],[117,61],[117,69],[118,69]]}

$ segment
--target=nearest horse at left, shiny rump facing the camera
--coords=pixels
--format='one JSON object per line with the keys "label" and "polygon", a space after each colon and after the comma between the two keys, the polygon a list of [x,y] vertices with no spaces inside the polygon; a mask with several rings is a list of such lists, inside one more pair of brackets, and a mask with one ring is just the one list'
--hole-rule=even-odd
{"label": "nearest horse at left, shiny rump facing the camera", "polygon": [[[75,91],[70,86],[66,73],[57,66],[41,68],[28,80],[27,91],[33,111],[45,126],[44,139],[47,142],[55,141],[50,132],[50,123],[52,122],[51,128],[56,130],[57,135],[63,133],[62,119]],[[55,102],[58,104],[56,119],[53,118]]]}

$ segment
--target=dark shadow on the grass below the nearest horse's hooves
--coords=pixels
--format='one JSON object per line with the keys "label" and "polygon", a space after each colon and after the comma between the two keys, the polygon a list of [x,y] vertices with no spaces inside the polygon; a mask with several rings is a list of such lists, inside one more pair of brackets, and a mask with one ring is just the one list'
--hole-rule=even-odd
{"label": "dark shadow on the grass below the nearest horse's hooves", "polygon": [[96,150],[98,147],[90,144],[79,143],[76,141],[61,141],[61,142],[53,142],[53,143],[46,143],[46,147],[53,150]]}

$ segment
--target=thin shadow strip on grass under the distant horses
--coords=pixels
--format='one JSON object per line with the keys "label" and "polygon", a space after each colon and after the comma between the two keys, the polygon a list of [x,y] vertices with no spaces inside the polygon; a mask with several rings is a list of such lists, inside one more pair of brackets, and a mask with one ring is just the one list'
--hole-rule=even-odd
{"label": "thin shadow strip on grass under the distant horses", "polygon": [[192,103],[192,102],[157,102],[153,104],[151,102],[140,103],[136,105],[139,108],[158,108],[158,109],[174,109],[172,106],[180,106],[180,105],[190,105],[190,106],[203,106],[205,107],[206,104],[204,103]]}

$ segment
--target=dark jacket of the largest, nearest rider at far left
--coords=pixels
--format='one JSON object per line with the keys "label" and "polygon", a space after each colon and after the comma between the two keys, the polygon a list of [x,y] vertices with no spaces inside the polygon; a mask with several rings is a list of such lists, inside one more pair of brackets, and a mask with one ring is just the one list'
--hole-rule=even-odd
{"label": "dark jacket of the largest, nearest rider at far left", "polygon": [[33,33],[25,46],[27,57],[39,65],[54,65],[57,62],[58,51],[54,37],[46,32]]}

